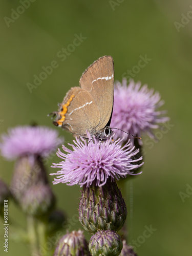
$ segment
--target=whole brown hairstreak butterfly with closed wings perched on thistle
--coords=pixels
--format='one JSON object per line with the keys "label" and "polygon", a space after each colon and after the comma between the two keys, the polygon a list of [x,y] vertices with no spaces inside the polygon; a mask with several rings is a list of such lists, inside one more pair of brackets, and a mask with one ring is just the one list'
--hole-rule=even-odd
{"label": "whole brown hairstreak butterfly with closed wings perched on thistle", "polygon": [[105,139],[113,111],[114,63],[111,56],[96,60],[81,76],[80,87],[73,87],[59,104],[53,123],[75,136]]}

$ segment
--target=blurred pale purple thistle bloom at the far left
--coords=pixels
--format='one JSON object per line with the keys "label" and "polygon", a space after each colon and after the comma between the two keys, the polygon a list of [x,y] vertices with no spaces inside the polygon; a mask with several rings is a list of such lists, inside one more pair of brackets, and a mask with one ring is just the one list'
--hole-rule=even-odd
{"label": "blurred pale purple thistle bloom at the far left", "polygon": [[17,126],[2,135],[2,156],[13,160],[24,155],[48,156],[63,139],[46,126]]}

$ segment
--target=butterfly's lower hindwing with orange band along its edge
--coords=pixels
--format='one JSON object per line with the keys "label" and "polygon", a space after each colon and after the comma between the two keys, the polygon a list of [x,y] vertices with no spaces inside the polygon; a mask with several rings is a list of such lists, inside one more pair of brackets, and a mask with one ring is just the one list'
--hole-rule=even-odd
{"label": "butterfly's lower hindwing with orange band along its edge", "polygon": [[86,130],[90,131],[100,120],[99,109],[92,95],[79,87],[69,90],[56,114],[58,126],[83,137],[87,137]]}

